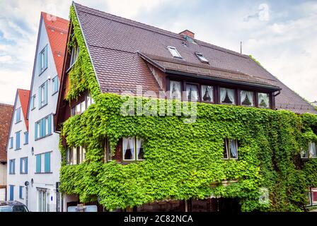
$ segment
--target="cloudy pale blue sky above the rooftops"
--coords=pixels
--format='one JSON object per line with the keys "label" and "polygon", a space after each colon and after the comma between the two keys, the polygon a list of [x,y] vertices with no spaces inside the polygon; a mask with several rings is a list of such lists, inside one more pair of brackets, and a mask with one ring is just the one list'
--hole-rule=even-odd
{"label": "cloudy pale blue sky above the rooftops", "polygon": [[[195,32],[255,59],[309,101],[317,100],[317,1],[78,0],[159,28]],[[0,0],[0,102],[30,88],[40,12],[68,18],[71,1]]]}

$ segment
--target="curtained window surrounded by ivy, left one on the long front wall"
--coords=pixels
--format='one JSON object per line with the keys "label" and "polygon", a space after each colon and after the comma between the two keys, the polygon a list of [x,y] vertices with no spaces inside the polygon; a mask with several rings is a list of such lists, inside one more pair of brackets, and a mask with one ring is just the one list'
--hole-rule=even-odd
{"label": "curtained window surrounded by ivy, left one on the long front wall", "polygon": [[144,160],[143,138],[122,138],[122,155],[124,161]]}

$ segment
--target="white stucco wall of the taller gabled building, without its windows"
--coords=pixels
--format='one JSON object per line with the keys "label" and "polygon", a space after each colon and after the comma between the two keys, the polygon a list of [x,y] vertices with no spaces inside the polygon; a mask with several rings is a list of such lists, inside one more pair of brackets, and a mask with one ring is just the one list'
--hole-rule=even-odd
{"label": "white stucco wall of the taller gabled building, without its windows", "polygon": [[[61,154],[59,153],[59,134],[54,133],[53,120],[52,120],[52,135],[35,141],[35,122],[46,117],[49,114],[55,114],[57,106],[58,93],[52,95],[52,78],[57,76],[57,69],[54,64],[54,58],[52,55],[52,49],[48,40],[47,32],[44,23],[41,23],[40,38],[38,42],[38,52],[36,57],[38,58],[42,49],[47,45],[47,69],[39,73],[38,59],[35,63],[35,74],[33,75],[33,85],[30,90],[30,96],[36,95],[35,109],[31,110],[28,115],[29,120],[29,143],[30,148],[34,148],[34,155],[30,158],[33,160],[33,164],[30,164],[29,170],[30,176],[33,179],[33,185],[29,185],[29,209],[31,211],[38,210],[38,188],[47,189],[50,192],[50,211],[56,211],[56,182],[59,182],[59,169],[61,166]],[[40,76],[39,76],[40,74]],[[47,78],[50,76],[50,80]],[[47,81],[47,105],[39,109],[39,87]],[[51,151],[50,157],[50,174],[35,174],[35,155],[40,153],[46,153]]]}

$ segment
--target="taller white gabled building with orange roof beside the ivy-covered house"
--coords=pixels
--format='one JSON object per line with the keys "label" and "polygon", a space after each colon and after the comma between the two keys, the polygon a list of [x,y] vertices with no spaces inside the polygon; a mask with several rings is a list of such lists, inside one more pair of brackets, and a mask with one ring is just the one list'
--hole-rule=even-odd
{"label": "taller white gabled building with orange roof beside the ivy-covered house", "polygon": [[53,121],[67,43],[68,20],[41,13],[27,119],[29,122],[28,208],[61,211],[57,192],[61,154]]}

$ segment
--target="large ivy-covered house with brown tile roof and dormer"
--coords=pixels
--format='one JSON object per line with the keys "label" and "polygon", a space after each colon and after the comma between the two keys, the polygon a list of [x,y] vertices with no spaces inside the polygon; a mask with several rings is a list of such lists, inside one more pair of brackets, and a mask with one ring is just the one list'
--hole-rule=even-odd
{"label": "large ivy-covered house with brown tile roof and dormer", "polygon": [[70,20],[55,117],[68,206],[305,209],[317,186],[313,106],[189,30],[76,3]]}

